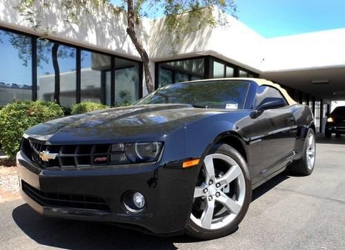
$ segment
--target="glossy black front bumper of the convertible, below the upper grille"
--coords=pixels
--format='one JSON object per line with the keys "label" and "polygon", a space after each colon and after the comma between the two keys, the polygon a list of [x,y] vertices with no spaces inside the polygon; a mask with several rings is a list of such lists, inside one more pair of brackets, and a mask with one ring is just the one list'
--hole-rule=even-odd
{"label": "glossy black front bumper of the convertible, below the upper grille", "polygon": [[[17,154],[17,166],[21,181],[21,195],[41,215],[77,220],[115,222],[141,231],[155,234],[182,233],[192,209],[197,167],[169,169],[150,166],[148,171],[135,169],[104,170],[45,170],[32,164],[21,152]],[[24,184],[24,185],[23,185]],[[39,194],[91,195],[105,201],[110,210],[76,208],[63,203],[47,205]],[[133,214],[121,204],[126,191],[139,191],[146,198],[146,209]]]}

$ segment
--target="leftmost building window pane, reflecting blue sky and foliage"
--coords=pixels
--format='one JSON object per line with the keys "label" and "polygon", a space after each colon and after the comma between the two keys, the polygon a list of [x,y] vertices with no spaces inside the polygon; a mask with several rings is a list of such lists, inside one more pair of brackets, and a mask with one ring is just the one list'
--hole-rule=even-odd
{"label": "leftmost building window pane, reflecting blue sky and foliage", "polygon": [[31,38],[0,30],[0,106],[32,99]]}

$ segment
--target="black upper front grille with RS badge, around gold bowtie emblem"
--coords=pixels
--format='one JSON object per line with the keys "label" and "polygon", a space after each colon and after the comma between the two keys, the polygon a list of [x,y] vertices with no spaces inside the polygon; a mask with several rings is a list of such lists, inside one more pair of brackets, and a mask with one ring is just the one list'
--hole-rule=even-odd
{"label": "black upper front grille with RS badge, around gold bowtie emblem", "polygon": [[[37,140],[23,138],[21,151],[41,169],[92,168],[130,163],[123,151],[124,148],[114,148],[114,145],[46,145]],[[40,157],[43,151],[54,155],[55,158],[43,161]]]}

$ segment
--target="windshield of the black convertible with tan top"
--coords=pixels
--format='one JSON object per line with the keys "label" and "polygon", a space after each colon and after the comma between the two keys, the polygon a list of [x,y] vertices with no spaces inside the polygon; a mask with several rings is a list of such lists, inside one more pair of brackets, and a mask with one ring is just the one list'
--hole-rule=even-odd
{"label": "windshield of the black convertible with tan top", "polygon": [[196,81],[157,89],[139,100],[141,104],[192,104],[199,108],[240,109],[244,107],[248,81]]}

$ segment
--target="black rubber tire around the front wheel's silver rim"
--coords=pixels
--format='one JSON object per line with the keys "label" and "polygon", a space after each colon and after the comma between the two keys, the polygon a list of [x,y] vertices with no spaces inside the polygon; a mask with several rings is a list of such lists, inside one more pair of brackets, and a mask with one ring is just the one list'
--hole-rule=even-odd
{"label": "black rubber tire around the front wheel's silver rim", "polygon": [[[192,236],[193,238],[198,238],[201,240],[221,238],[225,235],[228,235],[236,231],[239,223],[242,221],[242,219],[244,218],[244,215],[246,215],[246,212],[248,211],[248,206],[250,204],[251,196],[252,196],[250,174],[248,171],[248,166],[246,164],[246,161],[244,160],[242,155],[240,155],[238,151],[235,150],[235,148],[228,146],[228,144],[216,144],[212,148],[212,150],[208,153],[208,155],[212,153],[220,153],[220,154],[228,155],[229,157],[233,158],[233,160],[235,160],[235,162],[238,164],[238,166],[242,170],[242,173],[244,176],[244,182],[246,186],[246,189],[245,189],[246,191],[244,192],[245,193],[244,202],[242,204],[241,209],[239,210],[239,213],[237,213],[237,215],[235,215],[235,218],[225,227],[221,227],[219,229],[204,229],[203,227],[199,227],[199,225],[193,222],[193,220],[191,220],[190,218],[188,219],[188,223],[185,229],[186,234]],[[194,204],[194,200],[193,200],[193,204]]]}

